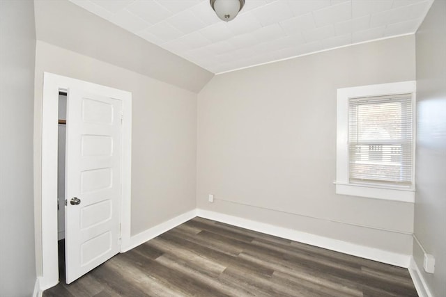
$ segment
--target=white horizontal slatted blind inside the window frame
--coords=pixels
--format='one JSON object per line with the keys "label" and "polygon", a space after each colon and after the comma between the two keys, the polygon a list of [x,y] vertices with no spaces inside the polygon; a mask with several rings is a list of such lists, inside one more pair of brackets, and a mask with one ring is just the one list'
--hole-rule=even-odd
{"label": "white horizontal slatted blind inside the window frame", "polygon": [[412,186],[411,94],[348,99],[350,182]]}

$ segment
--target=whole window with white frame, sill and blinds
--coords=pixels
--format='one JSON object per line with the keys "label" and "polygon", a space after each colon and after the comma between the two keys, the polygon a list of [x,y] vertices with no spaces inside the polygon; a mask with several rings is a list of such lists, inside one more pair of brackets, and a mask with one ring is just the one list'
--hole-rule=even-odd
{"label": "whole window with white frame, sill and blinds", "polygon": [[337,95],[337,193],[413,202],[415,82]]}

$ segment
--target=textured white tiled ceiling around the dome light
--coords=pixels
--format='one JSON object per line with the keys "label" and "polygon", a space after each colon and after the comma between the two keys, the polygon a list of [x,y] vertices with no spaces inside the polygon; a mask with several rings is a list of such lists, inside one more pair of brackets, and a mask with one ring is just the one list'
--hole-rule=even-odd
{"label": "textured white tiled ceiling around the dome light", "polygon": [[433,2],[245,0],[226,23],[208,0],[70,1],[215,74],[415,33]]}

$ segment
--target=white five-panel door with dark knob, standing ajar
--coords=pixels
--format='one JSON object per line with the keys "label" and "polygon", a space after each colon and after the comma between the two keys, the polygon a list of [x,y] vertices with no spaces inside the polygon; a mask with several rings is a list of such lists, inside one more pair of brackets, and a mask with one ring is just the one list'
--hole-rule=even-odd
{"label": "white five-panel door with dark knob, standing ajar", "polygon": [[66,282],[119,252],[122,101],[69,88]]}

